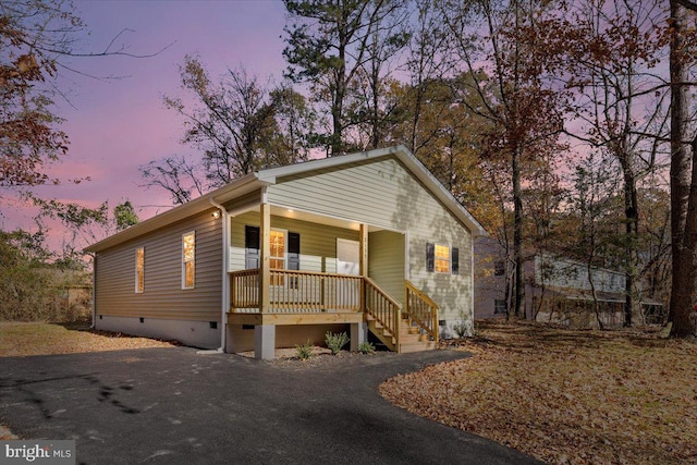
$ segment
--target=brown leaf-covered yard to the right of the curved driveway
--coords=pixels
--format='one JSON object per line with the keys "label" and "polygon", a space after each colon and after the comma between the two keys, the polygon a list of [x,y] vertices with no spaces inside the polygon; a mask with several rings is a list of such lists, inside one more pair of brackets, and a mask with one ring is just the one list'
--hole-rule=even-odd
{"label": "brown leaf-covered yard to the right of the curved driveway", "polygon": [[380,392],[548,463],[697,463],[694,340],[489,322],[454,345],[474,356]]}

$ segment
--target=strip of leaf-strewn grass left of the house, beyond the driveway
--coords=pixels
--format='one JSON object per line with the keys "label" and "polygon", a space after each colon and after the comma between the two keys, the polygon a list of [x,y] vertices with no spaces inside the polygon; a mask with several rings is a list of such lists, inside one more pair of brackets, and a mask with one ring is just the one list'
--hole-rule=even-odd
{"label": "strip of leaf-strewn grass left of the house, beyond the driveway", "polygon": [[171,342],[89,329],[89,323],[0,321],[0,357],[172,347]]}

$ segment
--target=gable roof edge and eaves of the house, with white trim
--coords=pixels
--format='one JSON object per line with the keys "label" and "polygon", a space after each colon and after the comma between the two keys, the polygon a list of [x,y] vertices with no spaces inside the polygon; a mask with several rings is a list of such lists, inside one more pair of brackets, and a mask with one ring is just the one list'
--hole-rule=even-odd
{"label": "gable roof edge and eaves of the house, with white trim", "polygon": [[234,180],[216,191],[209,192],[192,201],[174,207],[168,211],[159,213],[148,220],[142,221],[124,231],[105,238],[85,248],[85,252],[100,252],[143,234],[159,230],[168,224],[188,218],[213,208],[217,204],[222,204],[253,192],[259,187],[272,185],[278,179],[304,174],[313,171],[340,168],[350,163],[369,161],[388,156],[395,157],[404,167],[424,185],[445,208],[457,218],[470,232],[473,236],[487,235],[481,224],[463,207],[453,195],[431,174],[430,171],[404,146],[380,148],[369,151],[359,151],[339,157],[310,160],[303,163],[289,164],[285,167],[270,168],[246,174]]}

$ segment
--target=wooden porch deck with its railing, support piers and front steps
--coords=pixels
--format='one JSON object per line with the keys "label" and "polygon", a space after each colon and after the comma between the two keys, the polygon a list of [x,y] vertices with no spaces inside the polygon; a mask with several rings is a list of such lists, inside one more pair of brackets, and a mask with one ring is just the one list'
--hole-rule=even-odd
{"label": "wooden porch deck with its railing, support piers and front steps", "polygon": [[351,350],[372,332],[394,352],[438,344],[438,305],[408,281],[404,305],[368,277],[270,269],[230,273],[228,325],[254,327],[257,358],[273,358],[277,327],[347,325]]}

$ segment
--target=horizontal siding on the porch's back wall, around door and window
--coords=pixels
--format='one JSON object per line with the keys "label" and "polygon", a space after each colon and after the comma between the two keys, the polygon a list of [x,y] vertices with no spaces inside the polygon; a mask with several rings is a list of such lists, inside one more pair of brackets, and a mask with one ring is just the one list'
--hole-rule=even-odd
{"label": "horizontal siding on the porch's back wall, around door and window", "polygon": [[[249,211],[231,219],[230,271],[245,269],[245,225],[259,227],[259,212]],[[271,228],[301,235],[301,270],[335,273],[337,238],[358,241],[358,231],[271,216]]]}

